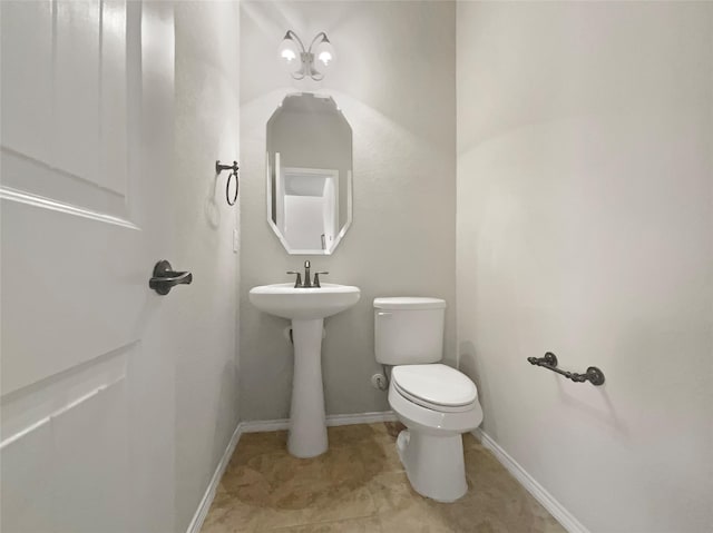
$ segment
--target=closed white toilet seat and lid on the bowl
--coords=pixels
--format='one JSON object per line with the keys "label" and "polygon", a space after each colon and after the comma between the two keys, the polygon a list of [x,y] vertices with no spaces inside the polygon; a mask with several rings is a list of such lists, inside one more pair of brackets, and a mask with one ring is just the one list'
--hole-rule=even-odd
{"label": "closed white toilet seat and lid on the bowl", "polygon": [[476,384],[447,365],[394,366],[391,379],[397,392],[404,398],[442,413],[470,411],[478,401]]}

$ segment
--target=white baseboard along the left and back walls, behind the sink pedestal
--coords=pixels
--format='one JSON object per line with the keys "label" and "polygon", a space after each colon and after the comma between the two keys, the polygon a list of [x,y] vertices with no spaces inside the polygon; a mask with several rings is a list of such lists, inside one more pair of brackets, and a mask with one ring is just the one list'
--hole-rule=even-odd
{"label": "white baseboard along the left and back walls, behind the sink pedestal", "polygon": [[[395,422],[397,415],[393,411],[384,411],[381,413],[359,413],[353,415],[329,415],[326,417],[328,426],[345,426],[350,424],[374,424],[377,422]],[[213,477],[211,477],[211,483],[205,490],[203,494],[203,499],[198,504],[198,509],[196,513],[193,515],[193,520],[188,525],[188,530],[186,533],[199,533],[201,527],[203,527],[203,522],[205,521],[206,515],[208,514],[208,510],[211,509],[211,504],[213,503],[213,499],[215,497],[215,491],[221,483],[221,478],[223,477],[223,473],[227,467],[231,457],[233,456],[233,452],[235,452],[235,447],[237,446],[238,441],[241,440],[241,435],[243,433],[261,433],[261,432],[275,432],[281,430],[286,430],[290,426],[290,421],[287,418],[279,420],[279,421],[248,421],[241,422],[237,424],[231,441],[227,443],[227,447],[225,448],[225,453],[223,457],[215,468],[213,473]]]}

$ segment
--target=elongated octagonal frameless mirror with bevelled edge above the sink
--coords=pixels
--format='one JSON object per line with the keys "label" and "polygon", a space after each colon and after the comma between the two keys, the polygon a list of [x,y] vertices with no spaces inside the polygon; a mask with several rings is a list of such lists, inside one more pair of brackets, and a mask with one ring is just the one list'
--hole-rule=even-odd
{"label": "elongated octagonal frameless mirror with bevelled edge above the sink", "polygon": [[352,129],[332,98],[285,97],[266,168],[267,219],[287,253],[332,254],[352,221]]}

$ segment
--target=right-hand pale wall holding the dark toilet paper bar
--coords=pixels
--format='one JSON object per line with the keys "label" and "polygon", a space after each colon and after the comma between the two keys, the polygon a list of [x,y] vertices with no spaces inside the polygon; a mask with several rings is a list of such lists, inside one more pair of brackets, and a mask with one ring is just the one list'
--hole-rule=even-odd
{"label": "right-hand pale wall holding the dark toilet paper bar", "polygon": [[[713,4],[458,4],[458,343],[592,532],[711,531]],[[603,387],[530,366],[553,351]]]}

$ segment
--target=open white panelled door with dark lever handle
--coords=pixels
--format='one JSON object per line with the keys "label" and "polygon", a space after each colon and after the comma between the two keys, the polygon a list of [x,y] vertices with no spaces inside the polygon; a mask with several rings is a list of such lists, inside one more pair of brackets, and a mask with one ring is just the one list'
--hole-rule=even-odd
{"label": "open white panelled door with dark lever handle", "polygon": [[2,1],[0,17],[0,530],[165,533],[174,293],[148,278],[170,260],[172,8]]}

